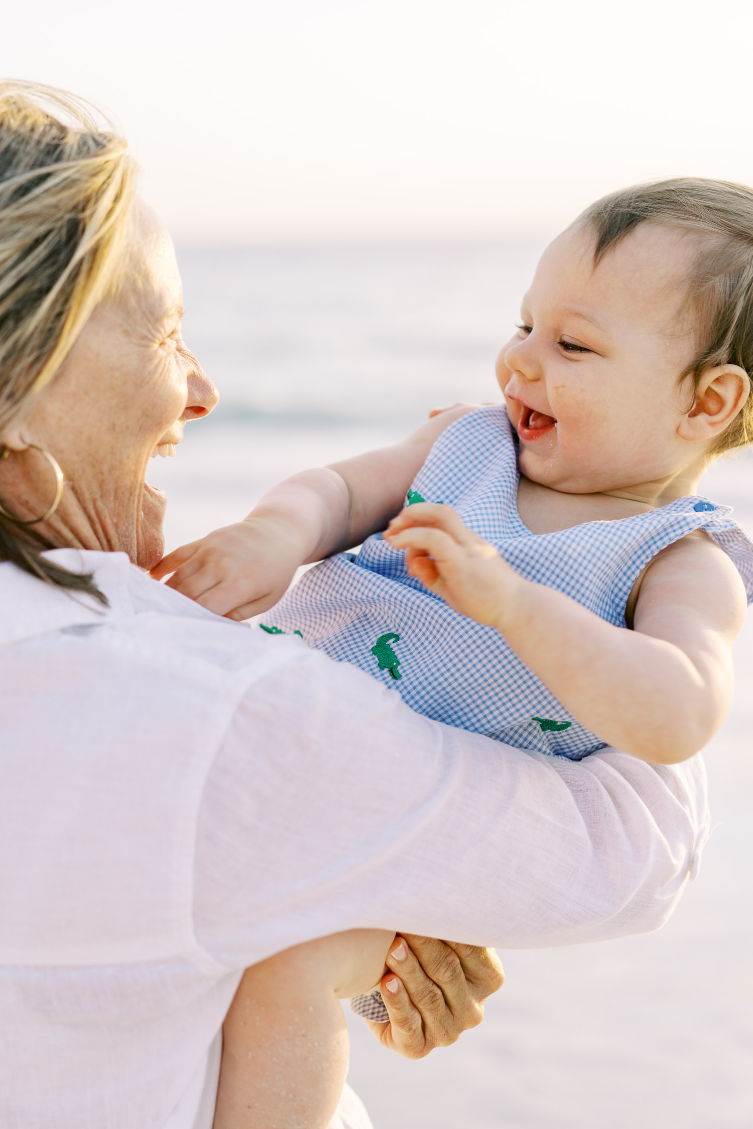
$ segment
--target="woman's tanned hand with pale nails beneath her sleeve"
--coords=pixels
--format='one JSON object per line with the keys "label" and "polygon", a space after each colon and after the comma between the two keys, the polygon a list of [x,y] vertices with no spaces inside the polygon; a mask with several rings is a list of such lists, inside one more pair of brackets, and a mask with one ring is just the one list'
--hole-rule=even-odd
{"label": "woman's tanned hand with pale nails beneath her sleeve", "polygon": [[424,1058],[448,1047],[483,1019],[488,996],[505,973],[493,948],[399,934],[380,982],[389,1023],[369,1023],[384,1047],[405,1058]]}

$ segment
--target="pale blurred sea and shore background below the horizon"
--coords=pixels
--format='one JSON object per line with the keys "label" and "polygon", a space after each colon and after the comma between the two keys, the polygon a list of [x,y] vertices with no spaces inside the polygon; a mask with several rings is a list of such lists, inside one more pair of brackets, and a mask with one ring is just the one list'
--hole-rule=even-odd
{"label": "pale blurred sea and shore background below the horizon", "polygon": [[[498,399],[536,244],[178,248],[186,340],[220,388],[150,481],[168,548],[238,520],[288,474],[388,443],[436,405]],[[753,530],[753,458],[703,491]],[[452,1048],[409,1062],[360,1019],[350,1083],[376,1129],[753,1127],[753,630],[707,752],[716,830],[656,934],[504,952],[507,983]]]}

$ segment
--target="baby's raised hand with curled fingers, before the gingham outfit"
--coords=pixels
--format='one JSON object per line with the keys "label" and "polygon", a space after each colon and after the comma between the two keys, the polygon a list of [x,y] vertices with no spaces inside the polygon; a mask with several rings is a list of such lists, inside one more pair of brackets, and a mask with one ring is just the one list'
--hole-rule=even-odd
{"label": "baby's raised hand with curled fingers, before the gingham outfit", "polygon": [[461,615],[501,630],[517,585],[525,583],[493,545],[472,533],[449,506],[409,506],[384,534],[405,550],[408,571]]}

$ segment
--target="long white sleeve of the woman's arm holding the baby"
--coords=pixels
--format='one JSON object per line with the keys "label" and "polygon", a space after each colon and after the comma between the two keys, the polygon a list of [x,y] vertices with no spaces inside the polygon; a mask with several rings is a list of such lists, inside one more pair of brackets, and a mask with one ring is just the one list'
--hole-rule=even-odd
{"label": "long white sleeve of the woman's arm holding the baby", "polygon": [[508,948],[647,931],[707,833],[700,758],[531,754],[297,648],[247,688],[208,777],[196,938],[242,968],[357,927]]}

